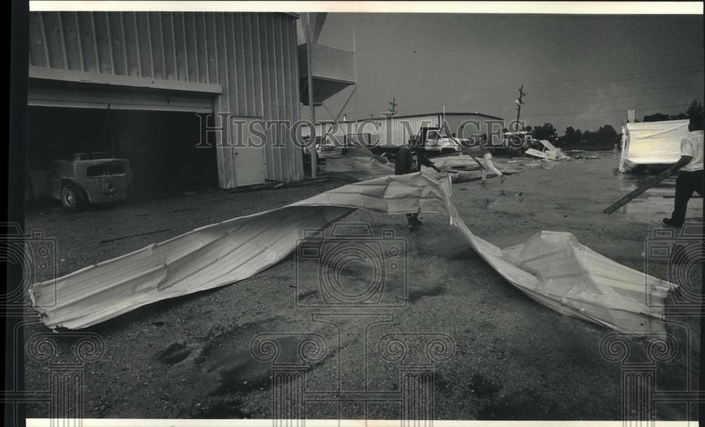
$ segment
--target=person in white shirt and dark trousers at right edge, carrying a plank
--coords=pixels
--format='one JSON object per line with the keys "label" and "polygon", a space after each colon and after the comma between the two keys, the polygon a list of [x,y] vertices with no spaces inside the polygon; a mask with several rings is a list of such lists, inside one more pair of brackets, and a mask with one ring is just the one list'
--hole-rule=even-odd
{"label": "person in white shirt and dark trousers at right edge, carrying a plank", "polygon": [[680,142],[680,160],[671,166],[672,171],[679,171],[675,180],[675,206],[670,218],[663,218],[663,223],[680,227],[685,222],[685,212],[693,192],[703,195],[703,113],[690,118],[690,133]]}

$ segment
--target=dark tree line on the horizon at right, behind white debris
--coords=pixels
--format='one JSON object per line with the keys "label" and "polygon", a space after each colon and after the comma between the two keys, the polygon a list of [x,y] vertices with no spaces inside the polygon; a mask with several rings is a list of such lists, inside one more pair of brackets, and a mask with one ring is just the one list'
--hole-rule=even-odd
{"label": "dark tree line on the horizon at right, behind white debris", "polygon": [[[685,113],[677,115],[668,115],[663,113],[654,113],[649,116],[644,116],[643,120],[635,120],[635,122],[656,122],[663,120],[686,120],[691,116],[702,113],[703,106],[697,99],[694,99]],[[532,135],[537,140],[548,140],[556,145],[556,147],[564,149],[612,149],[614,144],[620,144],[622,134],[618,133],[612,125],[600,126],[598,130],[580,130],[572,126],[565,128],[563,135],[558,136],[558,130],[551,123],[543,125],[525,126],[524,130],[531,130]]]}

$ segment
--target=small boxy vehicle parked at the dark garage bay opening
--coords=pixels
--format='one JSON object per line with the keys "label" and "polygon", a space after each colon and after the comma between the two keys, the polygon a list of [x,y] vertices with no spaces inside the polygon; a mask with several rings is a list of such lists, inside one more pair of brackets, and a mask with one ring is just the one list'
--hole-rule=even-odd
{"label": "small boxy vehicle parked at the dark garage bay opening", "polygon": [[128,159],[110,154],[74,154],[72,160],[54,160],[50,171],[29,171],[25,199],[48,195],[70,211],[90,203],[118,202],[128,198],[132,172]]}

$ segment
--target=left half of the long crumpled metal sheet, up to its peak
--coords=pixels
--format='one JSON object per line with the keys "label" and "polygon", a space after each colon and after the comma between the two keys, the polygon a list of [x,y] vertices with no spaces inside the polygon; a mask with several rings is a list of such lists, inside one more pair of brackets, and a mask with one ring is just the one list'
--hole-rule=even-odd
{"label": "left half of the long crumpled metal sheet, up to its peak", "polygon": [[445,214],[444,194],[442,185],[421,173],[345,185],[37,283],[32,305],[50,328],[85,328],[152,302],[254,276],[290,254],[302,230],[324,228],[355,209]]}

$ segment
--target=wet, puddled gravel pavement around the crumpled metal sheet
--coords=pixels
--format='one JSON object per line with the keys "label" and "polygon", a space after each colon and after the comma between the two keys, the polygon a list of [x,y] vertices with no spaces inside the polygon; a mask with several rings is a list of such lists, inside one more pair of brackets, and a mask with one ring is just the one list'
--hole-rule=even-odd
{"label": "wet, puddled gravel pavement around the crumpled metal sheet", "polygon": [[[643,179],[615,175],[618,160],[611,154],[550,163],[496,159],[500,167],[524,171],[504,183],[455,185],[453,203],[474,233],[500,247],[540,230],[570,231],[596,252],[668,278],[673,275],[668,263],[644,254],[650,233],[670,212],[673,180],[612,215],[603,214]],[[56,241],[57,272],[63,275],[343,184],[242,194],[207,190],[79,214],[44,204],[27,212],[26,226]],[[692,199],[687,221],[702,216],[702,199]],[[104,345],[101,356],[83,368],[84,416],[270,418],[281,409],[273,399],[282,389],[273,390],[272,384],[289,375],[300,378],[295,390],[310,397],[309,418],[395,419],[410,387],[402,373],[417,369],[433,372],[430,382],[419,384],[433,395],[437,419],[620,419],[620,363],[600,350],[611,330],[540,306],[489,268],[447,218],[423,214],[421,219],[424,225],[409,233],[404,216],[358,211],[345,218],[369,226],[378,237],[384,230],[391,233],[393,238],[376,240],[373,249],[393,252],[398,262],[358,259],[338,268],[323,258],[293,254],[234,285],[152,304],[78,331],[96,334]],[[685,285],[700,283],[701,272],[692,265],[683,268],[691,281]],[[378,279],[384,283],[381,295],[369,292]],[[362,296],[364,302],[354,309],[336,304]],[[678,309],[677,302],[669,304],[669,312]],[[697,385],[699,321],[667,319],[678,349],[672,359],[654,365],[656,390],[683,390]],[[31,324],[25,340],[46,332]],[[78,340],[61,338],[56,344],[61,357],[70,357]],[[646,360],[646,342],[626,340],[630,361]],[[27,389],[47,389],[49,362],[31,355],[25,361]],[[330,401],[351,392],[357,392],[356,399],[339,406]],[[377,393],[376,400],[364,404],[360,393]],[[48,407],[32,404],[27,414],[47,416]],[[694,416],[683,404],[659,404],[656,415]]]}

